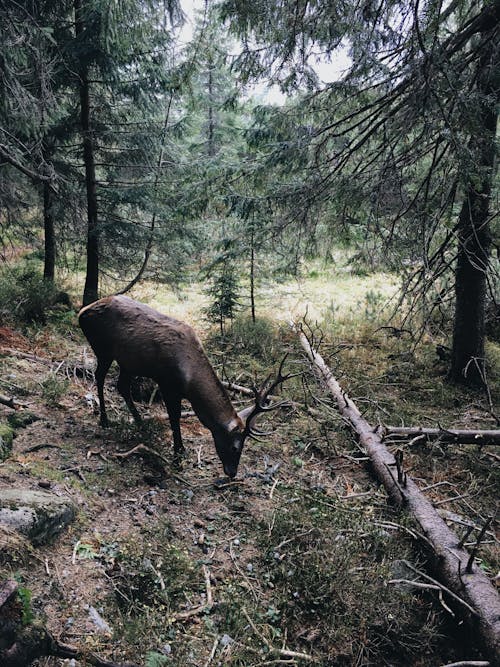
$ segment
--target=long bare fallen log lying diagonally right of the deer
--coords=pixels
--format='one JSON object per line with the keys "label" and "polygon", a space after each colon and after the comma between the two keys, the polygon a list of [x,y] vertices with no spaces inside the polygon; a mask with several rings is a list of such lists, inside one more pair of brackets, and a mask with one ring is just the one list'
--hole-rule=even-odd
{"label": "long bare fallen log lying diagonally right of the deer", "polygon": [[462,598],[475,613],[466,618],[482,639],[492,663],[500,665],[500,599],[488,577],[473,563],[473,556],[463,549],[457,535],[448,527],[418,486],[402,470],[401,455],[394,457],[370,424],[361,416],[354,402],[333,377],[330,369],[299,332],[300,342],[313,363],[316,374],[335,397],[346,422],[356,431],[361,445],[370,457],[377,478],[389,498],[405,507],[419,523],[426,543],[432,548],[438,576],[454,594]]}

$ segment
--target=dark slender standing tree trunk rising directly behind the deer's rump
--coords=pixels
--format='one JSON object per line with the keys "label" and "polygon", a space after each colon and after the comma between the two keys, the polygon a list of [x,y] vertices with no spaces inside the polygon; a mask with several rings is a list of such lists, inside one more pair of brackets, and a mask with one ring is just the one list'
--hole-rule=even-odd
{"label": "dark slender standing tree trunk rising directly behind the deer's rump", "polygon": [[[85,32],[81,0],[74,0],[76,37]],[[80,80],[80,123],[83,141],[83,162],[85,165],[85,186],[87,191],[87,271],[83,289],[83,305],[99,298],[99,229],[97,222],[97,188],[95,176],[94,143],[90,122],[90,85],[88,65],[82,60]]]}

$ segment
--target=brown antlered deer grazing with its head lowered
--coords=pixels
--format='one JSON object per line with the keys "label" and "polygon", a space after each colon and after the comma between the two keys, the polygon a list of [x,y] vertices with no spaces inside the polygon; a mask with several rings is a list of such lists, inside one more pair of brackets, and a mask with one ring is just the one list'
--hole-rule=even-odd
{"label": "brown antlered deer grazing with its head lowered", "polygon": [[116,361],[120,371],[117,389],[137,424],[142,419],[132,400],[132,379],[148,377],[158,384],[170,421],[176,464],[185,455],[180,429],[183,398],[211,432],[230,479],[236,477],[245,440],[266,435],[255,427],[258,415],[285,404],[271,404],[269,396],[291,377],[282,373],[286,356],[276,379],[270,382],[269,376],[260,389],[254,388],[255,404],[237,412],[195,330],[185,322],[123,295],[105,297],[83,307],[78,321],[97,358],[95,381],[101,426],[109,425],[104,380]]}

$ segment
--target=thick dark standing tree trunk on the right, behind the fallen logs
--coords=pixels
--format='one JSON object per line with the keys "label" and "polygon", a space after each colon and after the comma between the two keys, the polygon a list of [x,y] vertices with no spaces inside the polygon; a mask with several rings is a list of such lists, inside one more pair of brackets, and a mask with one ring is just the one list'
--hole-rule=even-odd
{"label": "thick dark standing tree trunk on the right, behind the fallen logs", "polygon": [[[487,27],[495,30],[496,23]],[[485,32],[482,33],[484,37]],[[485,42],[479,61],[476,94],[479,98],[469,150],[475,160],[458,221],[455,269],[455,322],[450,378],[470,386],[485,385],[484,336],[487,271],[491,247],[489,228],[491,187],[495,176],[495,137],[500,99],[498,43]]]}

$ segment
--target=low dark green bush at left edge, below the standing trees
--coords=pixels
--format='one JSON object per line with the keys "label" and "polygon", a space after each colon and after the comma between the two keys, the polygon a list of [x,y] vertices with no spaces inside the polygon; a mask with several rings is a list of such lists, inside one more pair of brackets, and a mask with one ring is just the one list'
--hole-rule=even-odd
{"label": "low dark green bush at left edge, below the standing trees", "polygon": [[45,323],[59,292],[29,265],[0,274],[0,317],[20,324]]}

